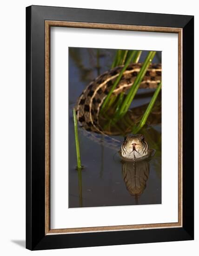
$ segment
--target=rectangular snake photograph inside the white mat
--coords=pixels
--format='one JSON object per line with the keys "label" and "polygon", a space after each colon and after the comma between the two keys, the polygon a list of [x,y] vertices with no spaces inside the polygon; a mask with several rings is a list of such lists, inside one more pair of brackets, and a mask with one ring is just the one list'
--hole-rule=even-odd
{"label": "rectangular snake photograph inside the white mat", "polygon": [[68,207],[161,204],[161,51],[68,56]]}

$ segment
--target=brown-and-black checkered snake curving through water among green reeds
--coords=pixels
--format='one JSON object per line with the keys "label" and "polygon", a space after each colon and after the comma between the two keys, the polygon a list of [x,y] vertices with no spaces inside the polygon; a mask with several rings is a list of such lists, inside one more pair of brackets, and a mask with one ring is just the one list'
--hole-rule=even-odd
{"label": "brown-and-black checkered snake curving through water among green reeds", "polygon": [[[118,95],[121,92],[125,93],[131,88],[142,65],[142,63],[131,63],[123,72],[112,95]],[[123,68],[124,65],[114,67],[91,81],[80,94],[75,107],[77,120],[79,121],[80,127],[83,128],[84,133],[97,141],[100,141],[100,135],[103,135],[103,139],[107,141],[106,145],[112,148],[119,148],[121,141],[110,137],[110,135],[113,135],[112,133],[103,131],[99,124],[99,111]],[[161,64],[151,63],[139,88],[156,89],[161,81],[161,72]],[[138,148],[138,145],[136,148]],[[123,152],[122,147],[120,151]],[[140,156],[142,155],[142,157],[150,155],[149,153],[146,154],[147,150],[145,150],[145,155],[143,155],[144,151],[142,152],[138,149],[138,152],[139,153],[135,150],[133,151],[135,157],[133,155],[131,156],[133,156],[134,160],[139,158],[139,154]],[[128,159],[128,156],[126,157],[125,155],[122,155],[122,157]]]}

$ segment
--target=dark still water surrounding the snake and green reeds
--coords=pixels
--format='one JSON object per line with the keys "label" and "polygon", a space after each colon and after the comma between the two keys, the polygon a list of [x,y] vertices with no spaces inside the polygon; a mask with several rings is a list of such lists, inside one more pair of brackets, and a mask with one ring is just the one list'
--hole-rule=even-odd
{"label": "dark still water surrounding the snake and green reeds", "polygon": [[[92,141],[82,128],[79,128],[79,140],[84,168],[76,170],[73,108],[88,83],[110,69],[115,52],[112,49],[69,48],[69,208],[161,203],[161,124],[140,131],[147,135],[150,148],[156,149],[155,156],[146,164],[149,168],[145,177],[148,179],[141,195],[131,195],[126,189],[124,166],[117,150]],[[146,54],[147,51],[142,52],[139,62],[145,60]],[[153,63],[161,63],[161,52],[157,52]],[[139,89],[138,93],[142,91]],[[150,99],[134,99],[133,107],[146,104]],[[100,136],[103,141],[103,135]]]}

